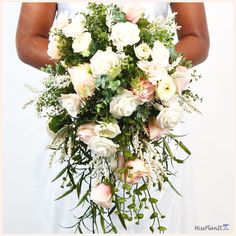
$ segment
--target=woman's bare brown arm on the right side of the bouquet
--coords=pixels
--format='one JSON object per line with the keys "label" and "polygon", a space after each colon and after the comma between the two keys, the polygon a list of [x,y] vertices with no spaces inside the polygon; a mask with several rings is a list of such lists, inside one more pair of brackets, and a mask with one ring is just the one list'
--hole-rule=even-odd
{"label": "woman's bare brown arm on the right side of the bouquet", "polygon": [[204,3],[171,3],[171,10],[177,12],[176,23],[179,42],[176,51],[197,65],[208,56],[210,46]]}

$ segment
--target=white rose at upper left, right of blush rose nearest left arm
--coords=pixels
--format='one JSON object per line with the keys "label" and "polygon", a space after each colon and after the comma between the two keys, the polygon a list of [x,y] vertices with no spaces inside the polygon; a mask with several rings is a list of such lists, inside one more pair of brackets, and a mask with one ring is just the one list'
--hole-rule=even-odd
{"label": "white rose at upper left, right of blush rose nearest left arm", "polygon": [[89,56],[89,46],[91,42],[91,34],[89,32],[85,32],[74,39],[72,48],[74,52],[86,54],[87,56]]}

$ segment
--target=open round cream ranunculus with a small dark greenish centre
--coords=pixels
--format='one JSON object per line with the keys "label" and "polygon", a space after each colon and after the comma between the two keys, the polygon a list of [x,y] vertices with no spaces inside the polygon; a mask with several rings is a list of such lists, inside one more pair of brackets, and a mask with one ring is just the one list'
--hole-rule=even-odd
{"label": "open round cream ranunculus with a small dark greenish centre", "polygon": [[176,93],[176,85],[171,77],[166,77],[165,79],[158,82],[156,88],[156,97],[163,100],[169,101]]}

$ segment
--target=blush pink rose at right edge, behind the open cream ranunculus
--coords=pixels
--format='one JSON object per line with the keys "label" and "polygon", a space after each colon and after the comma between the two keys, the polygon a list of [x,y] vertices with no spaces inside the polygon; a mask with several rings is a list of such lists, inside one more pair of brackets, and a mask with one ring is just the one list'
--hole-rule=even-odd
{"label": "blush pink rose at right edge, behind the open cream ranunculus", "polygon": [[179,95],[181,95],[182,91],[187,89],[190,83],[189,70],[185,66],[178,66],[176,67],[176,71],[173,74],[173,78],[177,92]]}

